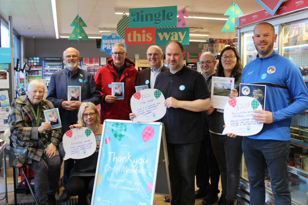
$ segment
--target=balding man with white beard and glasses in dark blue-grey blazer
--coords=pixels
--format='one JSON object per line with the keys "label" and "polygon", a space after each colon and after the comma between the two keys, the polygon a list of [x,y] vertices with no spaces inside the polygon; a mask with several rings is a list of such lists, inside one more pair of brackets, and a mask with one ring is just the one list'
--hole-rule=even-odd
{"label": "balding man with white beard and glasses in dark blue-grey blazer", "polygon": [[[82,102],[92,102],[97,105],[102,100],[102,96],[96,88],[93,74],[78,68],[80,58],[79,51],[75,48],[66,49],[63,52],[63,62],[66,69],[59,70],[50,77],[46,99],[51,101],[55,108],[59,108],[63,134],[70,129],[70,125],[77,123],[77,113]],[[81,86],[79,93],[81,102],[67,101],[67,86]],[[73,159],[64,161],[63,187],[66,187],[73,167]],[[60,201],[67,201],[69,198],[70,195],[64,189]]]}

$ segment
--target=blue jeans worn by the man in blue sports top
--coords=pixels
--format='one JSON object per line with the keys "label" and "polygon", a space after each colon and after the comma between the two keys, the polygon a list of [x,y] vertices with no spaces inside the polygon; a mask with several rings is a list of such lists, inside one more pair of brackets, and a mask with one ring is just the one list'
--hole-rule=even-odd
{"label": "blue jeans worn by the man in blue sports top", "polygon": [[242,147],[250,185],[250,204],[265,204],[264,177],[267,163],[275,204],[290,205],[287,172],[290,141],[244,137]]}

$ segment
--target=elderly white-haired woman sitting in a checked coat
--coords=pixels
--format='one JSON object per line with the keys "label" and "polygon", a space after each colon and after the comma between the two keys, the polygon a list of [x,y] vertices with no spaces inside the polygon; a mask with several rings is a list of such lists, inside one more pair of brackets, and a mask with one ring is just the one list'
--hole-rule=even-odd
{"label": "elderly white-haired woman sitting in a checked coat", "polygon": [[58,145],[62,135],[61,129],[51,129],[51,124],[45,122],[43,111],[55,107],[43,99],[44,91],[41,81],[31,81],[27,95],[12,102],[9,124],[15,148],[26,148],[29,143],[33,144],[28,155],[28,166],[35,173],[34,189],[39,204],[56,205],[55,192],[61,166]]}

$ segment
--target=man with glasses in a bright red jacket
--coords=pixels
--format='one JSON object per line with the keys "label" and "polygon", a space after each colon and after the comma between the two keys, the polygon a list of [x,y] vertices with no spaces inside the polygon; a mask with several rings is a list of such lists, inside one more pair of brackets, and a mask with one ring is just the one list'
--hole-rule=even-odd
{"label": "man with glasses in a bright red jacket", "polygon": [[[100,103],[100,120],[105,119],[130,120],[130,101],[134,94],[135,85],[138,78],[138,70],[135,63],[126,58],[125,45],[118,42],[112,47],[112,58],[107,61],[107,65],[98,69],[94,80],[97,89],[102,94]],[[111,83],[124,82],[124,99],[116,99],[111,95]]]}

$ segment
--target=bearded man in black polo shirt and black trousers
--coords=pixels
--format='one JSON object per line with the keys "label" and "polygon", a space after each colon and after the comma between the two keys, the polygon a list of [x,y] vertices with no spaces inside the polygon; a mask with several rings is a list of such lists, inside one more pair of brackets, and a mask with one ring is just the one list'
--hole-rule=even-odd
{"label": "bearded man in black polo shirt and black trousers", "polygon": [[195,203],[195,175],[202,135],[202,113],[210,108],[204,77],[183,64],[186,53],[178,41],[166,45],[169,70],[160,73],[154,88],[160,90],[167,111],[165,125],[171,204]]}

